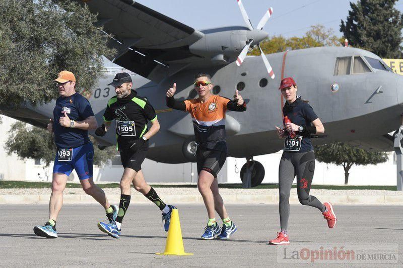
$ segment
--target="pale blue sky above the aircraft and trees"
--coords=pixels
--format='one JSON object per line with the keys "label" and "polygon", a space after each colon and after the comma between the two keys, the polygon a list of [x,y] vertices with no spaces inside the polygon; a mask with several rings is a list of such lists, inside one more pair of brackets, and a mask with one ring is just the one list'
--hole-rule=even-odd
{"label": "pale blue sky above the aircraft and trees", "polygon": [[[245,26],[236,0],[139,0],[138,3],[197,30],[221,26]],[[270,36],[301,37],[311,25],[332,28],[341,37],[340,21],[346,20],[349,0],[242,0],[249,19],[257,26],[265,11],[273,15],[263,28]],[[403,0],[395,8],[403,12]]]}

